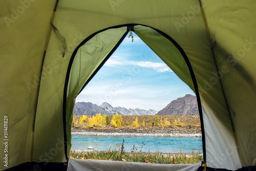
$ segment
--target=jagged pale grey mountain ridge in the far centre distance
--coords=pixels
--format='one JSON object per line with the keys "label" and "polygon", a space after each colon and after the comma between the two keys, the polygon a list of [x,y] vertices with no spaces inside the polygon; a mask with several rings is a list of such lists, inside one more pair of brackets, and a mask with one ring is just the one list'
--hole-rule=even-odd
{"label": "jagged pale grey mountain ridge in the far centre distance", "polygon": [[108,111],[115,115],[118,113],[119,115],[155,115],[157,111],[155,110],[141,110],[139,108],[136,109],[126,109],[126,108],[121,108],[121,107],[113,107],[111,104],[104,102],[100,105],[100,108],[102,108],[105,111]]}

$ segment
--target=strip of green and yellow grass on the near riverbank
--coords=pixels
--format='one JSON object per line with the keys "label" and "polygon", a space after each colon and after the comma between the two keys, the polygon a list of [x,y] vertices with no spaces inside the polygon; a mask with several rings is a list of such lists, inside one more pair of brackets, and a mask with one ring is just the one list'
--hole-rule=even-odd
{"label": "strip of green and yellow grass on the near riverbank", "polygon": [[162,153],[125,153],[120,150],[111,150],[105,152],[75,152],[71,151],[69,158],[74,159],[94,159],[94,160],[112,160],[127,162],[144,162],[159,164],[188,164],[198,163],[203,160],[203,156],[192,153],[186,156],[185,153],[178,154],[162,154]]}

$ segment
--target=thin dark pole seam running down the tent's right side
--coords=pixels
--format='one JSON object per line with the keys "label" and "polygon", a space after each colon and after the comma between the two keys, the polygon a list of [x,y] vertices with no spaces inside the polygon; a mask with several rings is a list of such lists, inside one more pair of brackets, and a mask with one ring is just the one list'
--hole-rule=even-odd
{"label": "thin dark pole seam running down the tent's right side", "polygon": [[[216,67],[216,70],[218,71],[219,69],[218,69],[218,66],[217,66],[217,62],[216,62],[216,58],[215,58],[215,54],[214,54],[214,49],[212,48],[212,42],[211,42],[211,37],[210,37],[210,31],[209,31],[209,27],[208,27],[207,20],[206,20],[206,17],[205,17],[205,13],[204,13],[204,8],[203,8],[203,5],[202,5],[202,1],[199,0],[199,3],[200,3],[200,8],[201,8],[201,12],[202,12],[202,15],[203,15],[203,19],[204,19],[204,24],[205,24],[205,27],[206,27],[206,32],[207,32],[207,36],[208,36],[208,40],[209,40],[209,45],[210,45],[212,57],[214,58],[215,67]],[[241,160],[241,155],[240,155],[240,152],[239,152],[237,136],[236,136],[236,133],[235,133],[235,131],[234,131],[234,124],[233,124],[233,121],[232,121],[232,118],[231,118],[231,114],[230,114],[230,110],[229,110],[229,105],[228,105],[228,102],[227,102],[227,98],[226,98],[226,95],[225,95],[225,92],[224,92],[224,89],[223,89],[223,84],[222,84],[222,81],[221,81],[221,78],[220,78],[220,75],[219,75],[219,74],[218,74],[218,77],[219,77],[219,81],[220,81],[220,85],[221,85],[222,94],[223,94],[224,99],[225,99],[226,108],[227,108],[227,111],[228,111],[228,116],[229,116],[229,119],[230,119],[230,122],[231,122],[232,131],[233,131],[233,137],[234,137],[234,142],[236,143],[237,152],[238,152],[238,157],[239,157],[241,166],[243,166],[243,162],[242,162],[242,160]]]}

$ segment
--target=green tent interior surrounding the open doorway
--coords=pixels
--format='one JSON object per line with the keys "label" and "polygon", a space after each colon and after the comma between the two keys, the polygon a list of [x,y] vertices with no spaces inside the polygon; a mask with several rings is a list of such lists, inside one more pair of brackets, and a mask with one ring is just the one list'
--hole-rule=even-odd
{"label": "green tent interior surrounding the open doorway", "polygon": [[204,161],[69,159],[68,169],[256,166],[255,1],[9,0],[0,8],[1,170],[67,162],[75,98],[129,31],[197,95]]}

